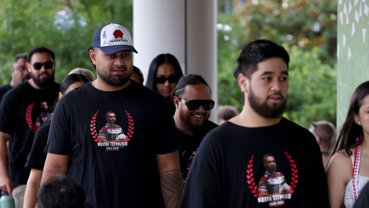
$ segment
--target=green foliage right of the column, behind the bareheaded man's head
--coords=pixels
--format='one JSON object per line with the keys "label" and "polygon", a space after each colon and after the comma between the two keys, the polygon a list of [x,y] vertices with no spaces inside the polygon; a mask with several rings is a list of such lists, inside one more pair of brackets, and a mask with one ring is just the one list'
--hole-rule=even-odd
{"label": "green foliage right of the column, behind the bareheaded man's head", "polygon": [[337,1],[235,0],[218,11],[218,102],[243,105],[233,71],[242,47],[256,39],[282,44],[290,54],[285,117],[308,127],[311,121],[336,123]]}

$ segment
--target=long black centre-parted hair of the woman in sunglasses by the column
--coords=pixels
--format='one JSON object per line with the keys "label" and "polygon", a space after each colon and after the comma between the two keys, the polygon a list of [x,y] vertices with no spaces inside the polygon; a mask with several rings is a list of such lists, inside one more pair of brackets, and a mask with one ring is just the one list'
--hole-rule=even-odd
{"label": "long black centre-parted hair of the woman in sunglasses by the column", "polygon": [[158,70],[158,67],[160,65],[162,65],[163,63],[169,63],[170,65],[172,65],[174,67],[174,70],[176,72],[176,75],[178,77],[183,77],[183,73],[181,70],[181,67],[179,65],[179,62],[177,60],[177,58],[175,56],[173,56],[172,54],[159,54],[158,56],[156,56],[150,64],[149,67],[149,73],[147,76],[147,81],[146,81],[146,87],[150,88],[151,90],[154,91],[158,91],[156,89],[156,83],[154,82],[155,76],[156,76],[156,70]]}

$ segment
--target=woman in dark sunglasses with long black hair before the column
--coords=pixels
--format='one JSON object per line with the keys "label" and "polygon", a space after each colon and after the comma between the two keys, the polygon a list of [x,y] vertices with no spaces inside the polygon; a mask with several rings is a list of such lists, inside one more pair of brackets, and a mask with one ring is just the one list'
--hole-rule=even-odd
{"label": "woman in dark sunglasses with long black hair before the column", "polygon": [[172,93],[181,77],[183,77],[181,67],[177,58],[172,54],[159,54],[151,61],[145,86],[166,98],[172,114],[175,113],[176,107],[170,100],[170,93]]}

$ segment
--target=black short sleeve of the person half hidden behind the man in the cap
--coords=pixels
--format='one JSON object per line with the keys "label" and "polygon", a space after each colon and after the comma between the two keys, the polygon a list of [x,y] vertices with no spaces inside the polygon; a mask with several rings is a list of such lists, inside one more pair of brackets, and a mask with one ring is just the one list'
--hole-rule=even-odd
{"label": "black short sleeve of the person half hidden behind the man in the cap", "polygon": [[33,140],[32,149],[27,157],[26,168],[35,168],[44,170],[46,160],[45,147],[49,136],[50,124],[43,125],[36,131],[35,139]]}

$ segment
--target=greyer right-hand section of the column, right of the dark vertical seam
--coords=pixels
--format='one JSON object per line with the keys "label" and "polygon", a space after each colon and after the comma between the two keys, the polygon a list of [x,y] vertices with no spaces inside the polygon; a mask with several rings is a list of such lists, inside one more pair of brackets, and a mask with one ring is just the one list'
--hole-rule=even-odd
{"label": "greyer right-hand section of the column, right of the dark vertical seam", "polygon": [[187,74],[200,74],[211,88],[215,107],[210,120],[217,123],[217,1],[187,0]]}

